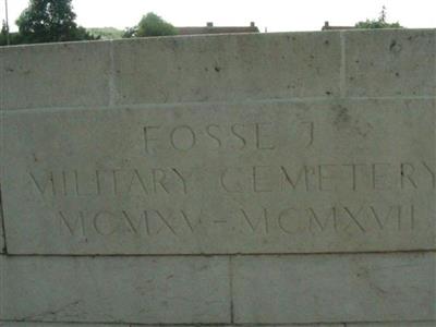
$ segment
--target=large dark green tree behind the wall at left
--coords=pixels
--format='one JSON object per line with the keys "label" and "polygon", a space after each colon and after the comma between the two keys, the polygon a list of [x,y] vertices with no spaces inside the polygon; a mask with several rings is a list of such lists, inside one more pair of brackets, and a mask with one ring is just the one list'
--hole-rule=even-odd
{"label": "large dark green tree behind the wall at left", "polygon": [[16,20],[22,43],[95,39],[74,22],[72,0],[31,0]]}

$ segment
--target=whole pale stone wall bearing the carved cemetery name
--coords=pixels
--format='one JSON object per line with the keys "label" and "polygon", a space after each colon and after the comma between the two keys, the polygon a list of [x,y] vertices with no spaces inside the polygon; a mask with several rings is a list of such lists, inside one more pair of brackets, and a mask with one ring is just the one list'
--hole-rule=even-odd
{"label": "whole pale stone wall bearing the carved cemetery name", "polygon": [[0,48],[0,325],[436,324],[436,32]]}

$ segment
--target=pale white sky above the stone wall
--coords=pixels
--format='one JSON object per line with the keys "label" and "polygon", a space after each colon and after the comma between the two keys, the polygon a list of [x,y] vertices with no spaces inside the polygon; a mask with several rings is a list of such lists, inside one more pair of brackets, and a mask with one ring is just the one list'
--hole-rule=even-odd
{"label": "pale white sky above the stone wall", "polygon": [[[0,19],[4,20],[0,0]],[[11,31],[29,0],[8,0]],[[155,12],[174,26],[247,26],[261,32],[319,31],[330,25],[354,25],[377,19],[382,7],[388,22],[410,28],[436,27],[436,0],[73,0],[76,22],[85,27],[136,25],[142,15]]]}

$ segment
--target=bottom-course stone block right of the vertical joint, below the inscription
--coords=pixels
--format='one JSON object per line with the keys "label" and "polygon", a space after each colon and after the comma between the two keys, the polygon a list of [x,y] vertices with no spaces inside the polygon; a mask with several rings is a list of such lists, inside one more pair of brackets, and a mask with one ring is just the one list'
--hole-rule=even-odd
{"label": "bottom-course stone block right of the vertical joint, below the inscription", "polygon": [[239,324],[435,318],[436,256],[241,256],[232,262]]}

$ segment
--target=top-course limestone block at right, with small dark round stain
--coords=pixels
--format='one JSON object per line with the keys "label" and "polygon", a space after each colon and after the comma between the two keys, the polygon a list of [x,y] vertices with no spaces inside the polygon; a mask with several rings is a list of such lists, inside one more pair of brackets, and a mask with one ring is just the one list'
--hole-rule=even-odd
{"label": "top-course limestone block at right, with small dark round stain", "polygon": [[435,29],[344,33],[347,95],[436,96]]}

